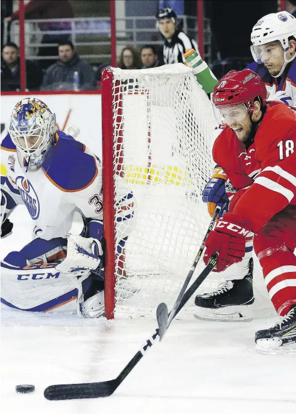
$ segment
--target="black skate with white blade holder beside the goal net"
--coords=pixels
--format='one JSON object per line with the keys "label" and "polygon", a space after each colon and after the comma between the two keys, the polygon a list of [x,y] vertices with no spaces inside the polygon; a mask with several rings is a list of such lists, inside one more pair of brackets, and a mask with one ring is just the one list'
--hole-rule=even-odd
{"label": "black skate with white blade holder beside the goal net", "polygon": [[241,280],[227,280],[214,292],[197,295],[195,318],[220,322],[250,322],[254,303],[253,259],[249,261],[249,272]]}

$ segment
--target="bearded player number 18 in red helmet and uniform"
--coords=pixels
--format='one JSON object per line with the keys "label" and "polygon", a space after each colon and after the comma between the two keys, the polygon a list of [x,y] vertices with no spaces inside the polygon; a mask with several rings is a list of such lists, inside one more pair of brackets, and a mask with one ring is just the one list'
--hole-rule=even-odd
{"label": "bearded player number 18 in red helmet and uniform", "polygon": [[218,272],[240,262],[254,233],[267,290],[283,317],[256,333],[257,349],[287,352],[296,343],[296,111],[266,98],[250,69],[229,72],[215,87],[213,102],[227,126],[213,158],[237,192],[206,241],[204,261],[217,252]]}

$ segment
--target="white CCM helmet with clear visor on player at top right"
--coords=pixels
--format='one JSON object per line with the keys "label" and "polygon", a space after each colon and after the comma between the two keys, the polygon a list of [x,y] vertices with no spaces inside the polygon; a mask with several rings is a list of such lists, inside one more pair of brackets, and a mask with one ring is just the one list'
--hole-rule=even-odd
{"label": "white CCM helmet with clear visor on player at top right", "polygon": [[252,29],[251,33],[251,52],[253,59],[257,63],[263,62],[263,45],[270,43],[271,49],[269,53],[273,53],[272,47],[274,42],[279,42],[283,48],[281,53],[284,54],[284,64],[277,75],[272,75],[277,78],[281,76],[289,62],[295,59],[296,53],[290,59],[289,52],[289,37],[296,38],[296,18],[288,11],[280,11],[279,13],[271,13],[262,17]]}

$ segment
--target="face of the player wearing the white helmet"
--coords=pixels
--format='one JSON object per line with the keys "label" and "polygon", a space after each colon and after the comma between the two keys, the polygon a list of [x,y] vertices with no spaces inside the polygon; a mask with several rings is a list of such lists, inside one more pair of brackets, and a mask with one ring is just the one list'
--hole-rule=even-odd
{"label": "face of the player wearing the white helmet", "polygon": [[284,49],[279,41],[256,46],[259,59],[272,76],[277,76],[284,65]]}

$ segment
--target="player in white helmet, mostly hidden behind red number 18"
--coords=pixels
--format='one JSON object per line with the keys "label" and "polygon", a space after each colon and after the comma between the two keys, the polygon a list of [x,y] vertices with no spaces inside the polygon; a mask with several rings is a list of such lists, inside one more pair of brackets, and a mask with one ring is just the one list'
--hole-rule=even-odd
{"label": "player in white helmet, mostly hidden behind red number 18", "polygon": [[[282,101],[287,105],[295,106],[295,17],[287,11],[261,17],[253,27],[251,43],[254,62],[248,65],[247,69],[252,69],[262,77],[268,100]],[[224,126],[221,125],[216,127],[213,138],[216,138],[223,128]],[[231,184],[225,171],[216,166],[203,191],[203,201],[208,204],[211,215],[217,204],[222,207],[222,213],[228,210],[227,194],[233,197],[235,192]],[[252,242],[248,241],[243,261],[220,274],[221,283],[218,289],[196,297],[195,316],[198,319],[239,322],[252,320],[254,302],[252,250]]]}

